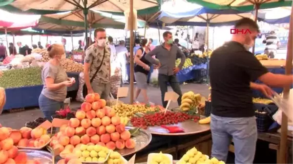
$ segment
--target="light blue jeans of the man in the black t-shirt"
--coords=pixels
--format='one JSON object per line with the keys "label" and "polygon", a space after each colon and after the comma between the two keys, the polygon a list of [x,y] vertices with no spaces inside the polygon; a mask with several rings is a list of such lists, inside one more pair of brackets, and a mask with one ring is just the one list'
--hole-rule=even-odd
{"label": "light blue jeans of the man in the black t-shirt", "polygon": [[230,118],[211,116],[211,157],[227,161],[229,146],[233,139],[235,164],[253,164],[257,128],[255,117]]}

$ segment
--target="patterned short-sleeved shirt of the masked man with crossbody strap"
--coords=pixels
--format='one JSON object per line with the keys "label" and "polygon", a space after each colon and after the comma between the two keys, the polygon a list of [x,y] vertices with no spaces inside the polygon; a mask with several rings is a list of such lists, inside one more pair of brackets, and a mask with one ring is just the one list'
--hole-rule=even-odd
{"label": "patterned short-sleeved shirt of the masked man with crossbody strap", "polygon": [[[90,68],[89,68],[89,79],[91,79],[98,69],[98,67],[101,65],[101,62],[103,60],[103,55],[104,55],[104,49],[99,49],[95,44],[90,45],[86,51],[85,51],[85,57],[84,57],[84,62],[90,63]],[[111,55],[111,50],[108,46],[105,47],[105,58],[102,63],[102,66],[93,79],[92,83],[109,83],[110,79],[110,74],[109,74],[109,69],[110,69],[110,55]]]}

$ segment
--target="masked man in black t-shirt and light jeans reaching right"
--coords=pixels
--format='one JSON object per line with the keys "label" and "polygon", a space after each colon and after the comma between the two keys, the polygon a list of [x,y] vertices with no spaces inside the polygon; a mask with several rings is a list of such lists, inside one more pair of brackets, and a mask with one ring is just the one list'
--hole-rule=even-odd
{"label": "masked man in black t-shirt and light jeans reaching right", "polygon": [[[225,162],[233,139],[235,164],[253,164],[257,128],[251,89],[269,97],[272,90],[267,85],[291,85],[293,75],[270,73],[248,51],[259,33],[256,22],[243,18],[234,29],[249,29],[251,34],[233,34],[232,40],[213,51],[210,57],[211,156]],[[264,84],[253,83],[257,79]]]}

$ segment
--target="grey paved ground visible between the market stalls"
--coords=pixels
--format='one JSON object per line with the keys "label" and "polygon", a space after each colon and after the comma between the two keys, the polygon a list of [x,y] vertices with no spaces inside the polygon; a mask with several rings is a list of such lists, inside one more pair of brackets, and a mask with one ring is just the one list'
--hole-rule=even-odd
{"label": "grey paved ground visible between the market stalls", "polygon": [[[205,97],[209,95],[209,86],[206,84],[186,84],[181,85],[182,92],[193,91],[194,93],[200,93]],[[171,88],[168,91],[172,91]],[[155,104],[161,104],[161,92],[159,88],[149,87],[148,89],[148,96],[151,102]],[[141,101],[142,97],[138,98],[138,101]],[[121,101],[125,103],[129,103],[129,98],[122,98]],[[71,108],[79,108],[79,102],[72,102],[70,107]],[[177,103],[171,103],[170,107],[178,106]],[[24,124],[28,121],[33,121],[34,119],[42,117],[42,112],[40,109],[26,109],[24,111],[9,113],[3,111],[0,115],[0,123],[2,126],[7,126],[11,128],[21,128]]]}

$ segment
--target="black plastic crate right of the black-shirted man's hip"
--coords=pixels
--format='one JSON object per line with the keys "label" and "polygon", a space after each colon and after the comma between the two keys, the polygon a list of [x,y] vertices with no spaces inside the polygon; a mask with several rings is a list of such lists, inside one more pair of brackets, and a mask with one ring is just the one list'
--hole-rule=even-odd
{"label": "black plastic crate right of the black-shirted man's hip", "polygon": [[268,129],[273,123],[273,120],[269,116],[269,113],[267,113],[265,110],[258,110],[258,111],[259,112],[264,111],[265,113],[255,112],[257,131],[260,131],[260,132],[268,131]]}

